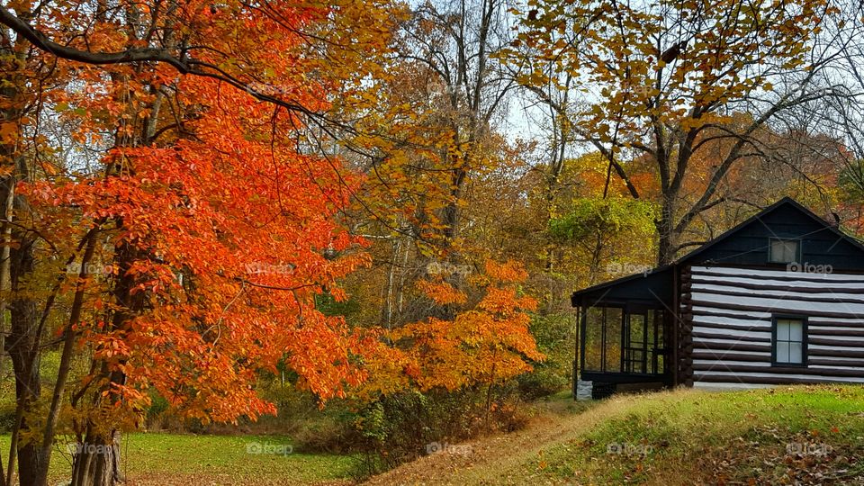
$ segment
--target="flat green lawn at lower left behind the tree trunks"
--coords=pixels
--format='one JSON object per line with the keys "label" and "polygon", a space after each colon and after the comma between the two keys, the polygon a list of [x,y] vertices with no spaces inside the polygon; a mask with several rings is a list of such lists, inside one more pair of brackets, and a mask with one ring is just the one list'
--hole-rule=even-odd
{"label": "flat green lawn at lower left behind the tree trunks", "polygon": [[[9,436],[0,437],[8,450]],[[129,434],[122,471],[135,484],[311,484],[344,482],[355,458],[294,452],[287,437]],[[290,453],[289,453],[290,451]],[[289,454],[284,454],[289,453]],[[52,455],[52,482],[66,478],[69,455]]]}

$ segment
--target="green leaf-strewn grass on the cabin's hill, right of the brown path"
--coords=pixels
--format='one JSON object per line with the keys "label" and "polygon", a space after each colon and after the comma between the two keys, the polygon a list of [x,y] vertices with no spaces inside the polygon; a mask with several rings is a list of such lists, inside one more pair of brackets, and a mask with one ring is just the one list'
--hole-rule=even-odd
{"label": "green leaf-strewn grass on the cabin's hill, right of the brown path", "polygon": [[519,473],[554,483],[864,482],[860,386],[654,393],[597,411],[596,427],[543,448]]}

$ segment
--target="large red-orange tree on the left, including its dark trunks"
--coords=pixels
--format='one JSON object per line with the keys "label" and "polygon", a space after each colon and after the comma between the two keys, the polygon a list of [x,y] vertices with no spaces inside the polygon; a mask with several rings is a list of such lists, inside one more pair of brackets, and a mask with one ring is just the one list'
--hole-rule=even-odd
{"label": "large red-orange tree on the left, including its dark trunks", "polygon": [[[87,155],[40,157],[17,187],[49,254],[38,269],[57,275],[27,338],[38,348],[59,321],[62,343],[48,417],[27,422],[43,429],[13,440],[40,443],[26,482],[47,481],[59,422],[79,443],[115,445],[155,392],[187,417],[231,421],[275,411],[255,383],[280,362],[322,400],[360,383],[374,339],[315,305],[344,299],[338,279],[367,262],[339,220],[358,180],[317,144],[334,137],[327,113],[360,108],[388,4],[31,7],[0,23],[68,76],[38,95]],[[56,302],[68,314],[46,326]],[[73,484],[119,481],[115,457],[80,450]]]}

